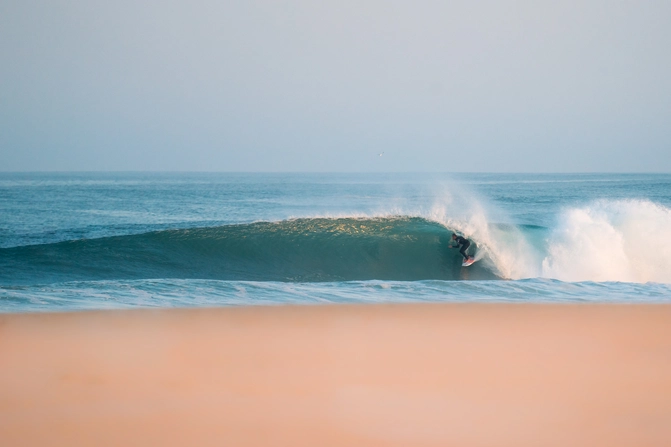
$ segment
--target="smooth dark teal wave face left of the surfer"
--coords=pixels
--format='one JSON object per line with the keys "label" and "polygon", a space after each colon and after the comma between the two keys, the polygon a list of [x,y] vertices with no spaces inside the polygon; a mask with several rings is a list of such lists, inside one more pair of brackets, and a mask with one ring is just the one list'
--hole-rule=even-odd
{"label": "smooth dark teal wave face left of the surfer", "polygon": [[[418,217],[306,218],[0,249],[0,282],[497,279],[463,269],[452,230]],[[474,243],[470,249],[477,250]]]}

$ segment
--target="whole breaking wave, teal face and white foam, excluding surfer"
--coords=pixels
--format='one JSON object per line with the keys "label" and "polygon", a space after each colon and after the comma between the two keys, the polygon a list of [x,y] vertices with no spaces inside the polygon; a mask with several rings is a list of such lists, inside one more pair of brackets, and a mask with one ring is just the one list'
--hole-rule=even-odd
{"label": "whole breaking wave, teal face and white foam, excluding surfer", "polygon": [[[566,208],[550,228],[464,219],[299,218],[0,249],[0,285],[135,279],[418,281],[551,278],[671,283],[671,210],[647,200]],[[458,232],[479,261],[462,268]]]}

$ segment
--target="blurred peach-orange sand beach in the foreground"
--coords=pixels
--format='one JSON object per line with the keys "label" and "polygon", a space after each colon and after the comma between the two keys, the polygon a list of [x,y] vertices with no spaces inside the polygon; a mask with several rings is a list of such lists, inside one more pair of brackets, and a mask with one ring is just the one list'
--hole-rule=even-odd
{"label": "blurred peach-orange sand beach in the foreground", "polygon": [[669,446],[671,306],[0,315],[0,445]]}

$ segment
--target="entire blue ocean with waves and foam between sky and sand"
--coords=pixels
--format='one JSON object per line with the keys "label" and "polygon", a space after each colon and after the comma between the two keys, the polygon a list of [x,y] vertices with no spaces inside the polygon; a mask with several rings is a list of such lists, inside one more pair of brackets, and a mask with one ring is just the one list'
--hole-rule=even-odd
{"label": "entire blue ocean with waves and foam between sky and sand", "polygon": [[0,173],[0,312],[416,301],[670,302],[671,175]]}

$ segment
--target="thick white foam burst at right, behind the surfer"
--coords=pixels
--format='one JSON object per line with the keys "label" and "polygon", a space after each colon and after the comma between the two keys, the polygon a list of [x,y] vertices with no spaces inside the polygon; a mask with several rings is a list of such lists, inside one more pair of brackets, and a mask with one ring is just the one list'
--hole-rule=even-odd
{"label": "thick white foam burst at right, behind the surfer", "polygon": [[671,210],[649,200],[601,200],[566,209],[550,235],[542,275],[671,283]]}

